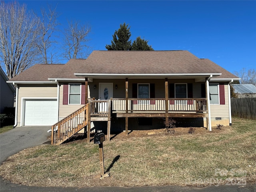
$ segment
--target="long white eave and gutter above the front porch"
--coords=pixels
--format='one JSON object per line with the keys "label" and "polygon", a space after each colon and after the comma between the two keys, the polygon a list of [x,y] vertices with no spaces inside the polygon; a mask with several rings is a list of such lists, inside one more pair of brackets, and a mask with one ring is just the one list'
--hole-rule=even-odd
{"label": "long white eave and gutter above the front porch", "polygon": [[174,74],[104,74],[104,73],[74,73],[84,78],[202,78],[220,76],[221,73],[174,73]]}

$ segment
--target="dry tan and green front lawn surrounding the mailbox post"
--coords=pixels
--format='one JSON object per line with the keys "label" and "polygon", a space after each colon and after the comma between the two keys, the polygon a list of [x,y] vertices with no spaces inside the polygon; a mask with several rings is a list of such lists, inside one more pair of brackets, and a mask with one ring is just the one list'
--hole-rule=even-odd
{"label": "dry tan and green front lawn surrounding the mailbox post", "polygon": [[[147,186],[224,184],[256,181],[256,121],[234,118],[232,127],[212,132],[196,128],[121,133],[104,142],[100,179],[98,145],[78,140],[37,146],[11,156],[0,167],[12,182],[30,186]],[[148,135],[148,132],[155,132]]]}

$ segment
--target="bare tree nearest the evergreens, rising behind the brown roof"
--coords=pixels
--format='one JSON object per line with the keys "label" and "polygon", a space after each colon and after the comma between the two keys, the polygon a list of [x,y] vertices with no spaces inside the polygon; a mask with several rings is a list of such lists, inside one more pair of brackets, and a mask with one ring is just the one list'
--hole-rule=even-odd
{"label": "bare tree nearest the evergreens, rising behind the brown roof", "polygon": [[69,22],[68,28],[64,30],[64,57],[67,59],[85,58],[90,48],[86,42],[89,41],[88,34],[91,31],[89,25],[80,22]]}

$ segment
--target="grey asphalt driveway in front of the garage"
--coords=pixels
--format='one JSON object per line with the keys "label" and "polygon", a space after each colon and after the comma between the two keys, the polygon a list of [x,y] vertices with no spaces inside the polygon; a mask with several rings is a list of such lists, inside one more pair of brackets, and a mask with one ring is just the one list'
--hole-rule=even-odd
{"label": "grey asphalt driveway in front of the garage", "polygon": [[16,127],[8,132],[0,134],[0,164],[9,156],[26,148],[49,143],[47,139],[51,133],[47,130],[51,127]]}

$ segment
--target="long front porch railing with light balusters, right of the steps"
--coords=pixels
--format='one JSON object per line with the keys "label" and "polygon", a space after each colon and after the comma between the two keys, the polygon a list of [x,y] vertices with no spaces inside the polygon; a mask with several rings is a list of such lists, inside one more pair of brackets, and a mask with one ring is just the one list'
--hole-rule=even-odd
{"label": "long front porch railing with light balusters, right of the steps", "polygon": [[[206,112],[205,98],[128,98],[128,112]],[[167,109],[166,109],[167,107]],[[113,112],[126,112],[125,98],[112,98]]]}

